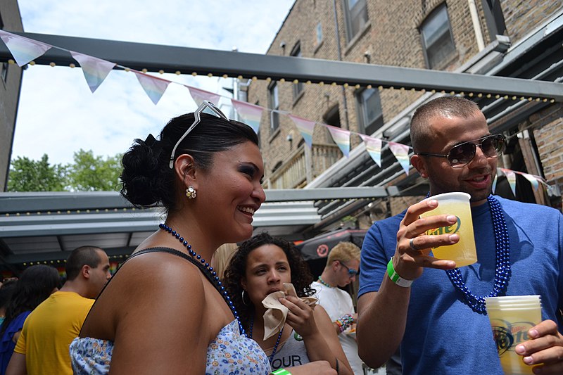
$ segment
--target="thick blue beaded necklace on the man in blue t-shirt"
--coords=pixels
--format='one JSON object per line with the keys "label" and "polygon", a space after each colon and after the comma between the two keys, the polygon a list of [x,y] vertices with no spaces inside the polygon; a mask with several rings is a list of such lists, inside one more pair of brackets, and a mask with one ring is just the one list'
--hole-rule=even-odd
{"label": "thick blue beaded necklace on the man in blue t-shirt", "polygon": [[485,307],[485,298],[496,297],[506,292],[508,281],[510,280],[510,241],[508,239],[508,229],[506,227],[505,215],[497,199],[493,196],[487,197],[488,205],[491,208],[491,216],[493,217],[493,231],[495,234],[495,283],[493,291],[480,297],[469,291],[462,279],[462,273],[459,268],[446,271],[453,286],[463,293],[466,305],[472,308],[478,314],[487,314]]}

